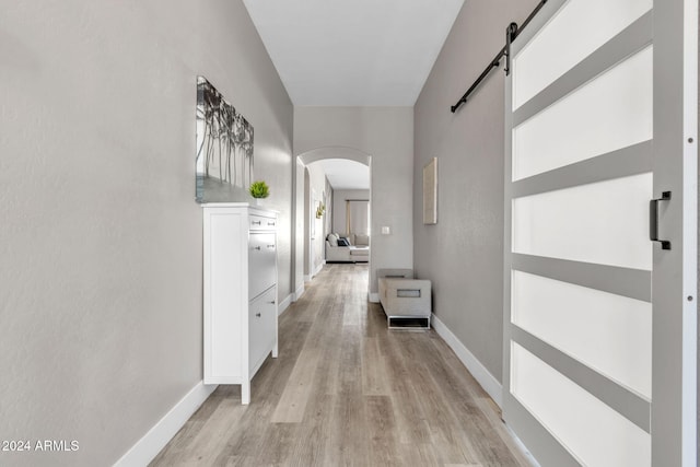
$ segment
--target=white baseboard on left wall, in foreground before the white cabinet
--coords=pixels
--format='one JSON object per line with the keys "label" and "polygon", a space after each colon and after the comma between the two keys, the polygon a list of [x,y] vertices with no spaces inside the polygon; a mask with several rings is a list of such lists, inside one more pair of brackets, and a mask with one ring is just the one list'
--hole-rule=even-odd
{"label": "white baseboard on left wall, in foreground before the white cabinet", "polygon": [[148,433],[143,435],[119,460],[115,467],[145,466],[175,436],[185,422],[214,392],[217,385],[202,382],[183,397]]}

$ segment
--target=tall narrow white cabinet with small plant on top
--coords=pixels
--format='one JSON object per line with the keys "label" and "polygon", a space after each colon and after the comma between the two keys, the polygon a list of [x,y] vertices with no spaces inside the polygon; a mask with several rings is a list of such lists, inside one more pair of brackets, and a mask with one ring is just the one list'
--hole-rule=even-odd
{"label": "tall narrow white cabinet with small plant on top", "polygon": [[247,203],[205,211],[205,384],[250,380],[277,357],[277,213]]}

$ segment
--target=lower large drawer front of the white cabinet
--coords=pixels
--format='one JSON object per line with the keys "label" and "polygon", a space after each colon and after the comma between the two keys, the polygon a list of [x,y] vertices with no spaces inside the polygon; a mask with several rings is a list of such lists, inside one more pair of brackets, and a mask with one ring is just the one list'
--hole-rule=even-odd
{"label": "lower large drawer front of the white cabinet", "polygon": [[248,316],[248,364],[255,371],[262,363],[275,345],[275,322],[277,319],[277,288],[272,287],[250,302]]}

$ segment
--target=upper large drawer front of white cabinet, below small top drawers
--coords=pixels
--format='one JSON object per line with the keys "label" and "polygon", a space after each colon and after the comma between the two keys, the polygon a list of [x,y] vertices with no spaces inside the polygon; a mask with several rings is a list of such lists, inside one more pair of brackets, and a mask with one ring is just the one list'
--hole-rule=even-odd
{"label": "upper large drawer front of white cabinet, below small top drawers", "polygon": [[250,232],[248,245],[248,299],[253,300],[277,283],[276,234]]}

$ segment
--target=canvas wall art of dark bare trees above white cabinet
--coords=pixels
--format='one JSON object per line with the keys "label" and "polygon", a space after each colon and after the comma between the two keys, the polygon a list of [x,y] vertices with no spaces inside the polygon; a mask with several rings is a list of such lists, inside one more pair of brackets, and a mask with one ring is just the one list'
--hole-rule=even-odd
{"label": "canvas wall art of dark bare trees above white cabinet", "polygon": [[203,77],[197,78],[197,202],[247,201],[253,126]]}

